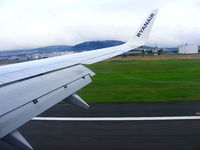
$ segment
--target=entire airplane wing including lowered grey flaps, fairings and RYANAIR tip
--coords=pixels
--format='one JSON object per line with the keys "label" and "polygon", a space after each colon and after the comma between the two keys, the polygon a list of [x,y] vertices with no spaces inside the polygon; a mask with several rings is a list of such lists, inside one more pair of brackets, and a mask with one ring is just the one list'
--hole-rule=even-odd
{"label": "entire airplane wing including lowered grey flaps, fairings and RYANAIR tip", "polygon": [[0,139],[20,149],[32,149],[17,128],[58,102],[88,108],[76,92],[91,82],[85,67],[145,44],[158,10],[153,10],[125,44],[71,55],[0,67]]}

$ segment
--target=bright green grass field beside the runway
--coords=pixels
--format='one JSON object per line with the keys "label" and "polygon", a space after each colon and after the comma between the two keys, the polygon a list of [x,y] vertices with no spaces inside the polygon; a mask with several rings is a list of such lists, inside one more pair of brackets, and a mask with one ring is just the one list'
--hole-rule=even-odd
{"label": "bright green grass field beside the runway", "polygon": [[105,61],[88,67],[96,76],[78,92],[87,102],[200,100],[200,60]]}

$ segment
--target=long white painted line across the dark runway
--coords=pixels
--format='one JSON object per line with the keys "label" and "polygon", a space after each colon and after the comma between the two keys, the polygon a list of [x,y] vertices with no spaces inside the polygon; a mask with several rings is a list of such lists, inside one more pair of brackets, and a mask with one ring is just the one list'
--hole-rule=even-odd
{"label": "long white painted line across the dark runway", "polygon": [[172,117],[34,117],[37,121],[153,121],[153,120],[200,120],[200,116]]}

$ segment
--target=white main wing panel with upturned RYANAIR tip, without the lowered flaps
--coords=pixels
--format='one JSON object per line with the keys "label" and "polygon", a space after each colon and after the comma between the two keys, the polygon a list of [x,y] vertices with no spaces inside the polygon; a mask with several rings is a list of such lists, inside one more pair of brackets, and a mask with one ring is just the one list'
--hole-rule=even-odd
{"label": "white main wing panel with upturned RYANAIR tip, without the lowered flaps", "polygon": [[0,85],[26,79],[49,71],[73,66],[76,64],[92,64],[133,50],[146,43],[158,10],[153,10],[145,19],[139,30],[125,44],[58,56],[42,60],[11,64],[0,67]]}

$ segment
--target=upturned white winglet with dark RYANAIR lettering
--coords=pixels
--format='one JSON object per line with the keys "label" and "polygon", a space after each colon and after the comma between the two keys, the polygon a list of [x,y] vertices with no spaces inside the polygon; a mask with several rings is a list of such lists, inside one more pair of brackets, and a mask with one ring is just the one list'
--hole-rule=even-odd
{"label": "upturned white winglet with dark RYANAIR lettering", "polygon": [[157,13],[158,9],[153,10],[148,15],[148,17],[146,18],[142,26],[139,28],[139,30],[129,39],[129,41],[126,44],[128,44],[129,46],[144,45],[148,40]]}

